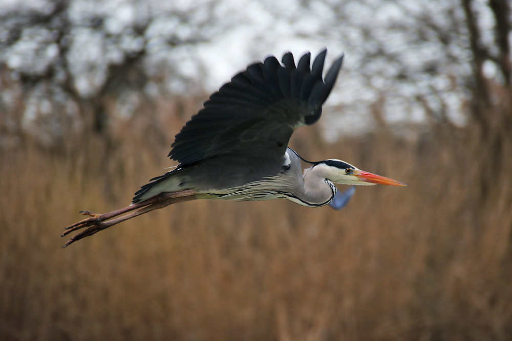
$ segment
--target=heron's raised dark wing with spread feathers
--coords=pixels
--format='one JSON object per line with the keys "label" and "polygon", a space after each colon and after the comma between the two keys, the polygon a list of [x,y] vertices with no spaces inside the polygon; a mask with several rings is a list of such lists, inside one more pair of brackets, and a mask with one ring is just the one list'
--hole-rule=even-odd
{"label": "heron's raised dark wing with spread feathers", "polygon": [[322,78],[327,50],[295,65],[271,56],[254,63],[210,96],[176,135],[169,157],[190,165],[209,157],[243,153],[282,157],[293,129],[315,123],[342,67],[343,55]]}

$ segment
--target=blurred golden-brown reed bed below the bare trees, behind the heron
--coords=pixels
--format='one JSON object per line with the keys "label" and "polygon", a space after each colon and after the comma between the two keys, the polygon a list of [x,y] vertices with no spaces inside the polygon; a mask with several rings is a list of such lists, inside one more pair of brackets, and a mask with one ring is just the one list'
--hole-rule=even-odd
{"label": "blurred golden-brown reed bed below the bare trees, behind the heron", "polygon": [[305,158],[408,187],[359,188],[340,212],[186,202],[61,249],[78,211],[125,206],[173,165],[169,141],[122,129],[1,151],[1,339],[512,338],[512,158],[490,173],[471,127],[333,145],[300,130]]}

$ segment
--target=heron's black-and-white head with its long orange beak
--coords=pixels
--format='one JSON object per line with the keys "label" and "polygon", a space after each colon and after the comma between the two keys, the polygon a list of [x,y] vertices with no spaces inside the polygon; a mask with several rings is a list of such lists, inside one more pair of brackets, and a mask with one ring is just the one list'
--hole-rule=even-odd
{"label": "heron's black-and-white head with its long orange beak", "polygon": [[384,176],[369,173],[352,166],[341,160],[325,160],[314,164],[312,168],[321,171],[326,179],[336,184],[344,185],[389,185],[406,186],[400,181],[393,180]]}

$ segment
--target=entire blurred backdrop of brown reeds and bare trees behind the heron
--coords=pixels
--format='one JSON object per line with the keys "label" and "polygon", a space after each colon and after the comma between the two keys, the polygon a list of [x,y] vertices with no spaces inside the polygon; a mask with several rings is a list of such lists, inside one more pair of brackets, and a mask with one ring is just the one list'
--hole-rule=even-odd
{"label": "entire blurred backdrop of brown reeds and bare trees behind the heron", "polygon": [[[0,2],[0,338],[512,338],[510,2]],[[129,202],[251,60],[346,60],[307,159],[404,189],[347,209]]]}

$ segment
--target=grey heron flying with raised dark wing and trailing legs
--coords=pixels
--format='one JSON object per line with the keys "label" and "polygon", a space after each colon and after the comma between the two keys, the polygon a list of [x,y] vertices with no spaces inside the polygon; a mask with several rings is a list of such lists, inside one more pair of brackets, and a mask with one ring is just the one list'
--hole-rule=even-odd
{"label": "grey heron flying with raised dark wing and trailing legs", "polygon": [[[362,171],[340,160],[310,162],[288,148],[293,131],[318,121],[343,55],[322,77],[327,50],[310,66],[311,54],[295,64],[286,53],[254,63],[210,96],[197,115],[176,135],[169,157],[179,165],[150,180],[135,193],[132,204],[90,216],[66,228],[85,230],[63,246],[121,221],[194,200],[270,200],[286,198],[306,207],[343,207],[353,189],[337,194],[334,184],[405,186]],[[309,164],[302,171],[301,161]]]}

